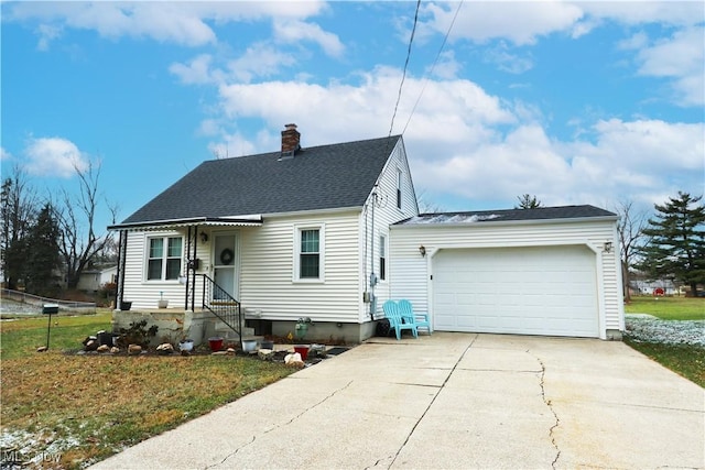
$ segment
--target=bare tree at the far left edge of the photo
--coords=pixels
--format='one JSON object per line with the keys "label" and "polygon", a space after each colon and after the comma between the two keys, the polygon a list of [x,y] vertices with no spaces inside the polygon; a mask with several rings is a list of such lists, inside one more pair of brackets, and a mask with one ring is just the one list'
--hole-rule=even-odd
{"label": "bare tree at the far left edge of the photo", "polygon": [[1,197],[2,274],[6,287],[17,289],[19,281],[24,276],[29,230],[39,210],[36,194],[29,186],[26,176],[19,165],[15,165],[12,174],[2,182]]}

